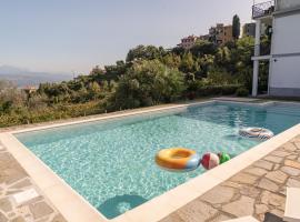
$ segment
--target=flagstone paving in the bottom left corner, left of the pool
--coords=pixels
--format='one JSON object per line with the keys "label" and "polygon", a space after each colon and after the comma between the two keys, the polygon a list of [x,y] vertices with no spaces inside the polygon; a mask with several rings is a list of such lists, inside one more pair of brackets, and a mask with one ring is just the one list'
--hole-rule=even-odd
{"label": "flagstone paving in the bottom left corner, left of the pool", "polygon": [[1,143],[0,222],[66,222]]}

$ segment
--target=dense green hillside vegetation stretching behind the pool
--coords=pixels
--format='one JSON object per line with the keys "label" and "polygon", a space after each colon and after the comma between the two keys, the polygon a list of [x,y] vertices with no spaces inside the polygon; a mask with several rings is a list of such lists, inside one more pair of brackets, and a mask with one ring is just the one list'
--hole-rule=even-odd
{"label": "dense green hillside vegetation stretching behind the pool", "polygon": [[190,50],[138,46],[128,52],[126,61],[104,69],[96,67],[71,81],[40,84],[36,92],[1,81],[0,127],[199,97],[247,95],[253,44],[252,38],[242,38],[224,46],[198,41]]}

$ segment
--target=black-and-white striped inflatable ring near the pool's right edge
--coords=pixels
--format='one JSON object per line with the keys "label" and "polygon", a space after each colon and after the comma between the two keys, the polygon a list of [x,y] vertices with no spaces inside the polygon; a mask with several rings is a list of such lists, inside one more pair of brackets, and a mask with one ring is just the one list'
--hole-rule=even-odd
{"label": "black-and-white striped inflatable ring near the pool's right edge", "polygon": [[254,138],[259,140],[269,140],[274,133],[264,128],[242,128],[239,130],[239,134],[244,138]]}

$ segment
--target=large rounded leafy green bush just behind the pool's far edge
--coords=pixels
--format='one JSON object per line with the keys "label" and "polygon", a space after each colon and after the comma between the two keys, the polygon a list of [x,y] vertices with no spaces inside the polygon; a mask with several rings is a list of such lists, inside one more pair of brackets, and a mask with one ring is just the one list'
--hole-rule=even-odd
{"label": "large rounded leafy green bush just behind the pool's far edge", "polygon": [[183,74],[159,60],[134,62],[119,80],[110,99],[112,109],[131,109],[170,102],[184,90]]}

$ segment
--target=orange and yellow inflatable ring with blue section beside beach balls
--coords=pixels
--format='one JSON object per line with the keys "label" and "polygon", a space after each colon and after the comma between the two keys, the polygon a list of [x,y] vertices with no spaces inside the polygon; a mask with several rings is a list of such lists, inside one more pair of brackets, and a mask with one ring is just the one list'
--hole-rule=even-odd
{"label": "orange and yellow inflatable ring with blue section beside beach balls", "polygon": [[199,167],[200,155],[190,149],[171,148],[159,151],[156,162],[164,170],[184,172]]}

